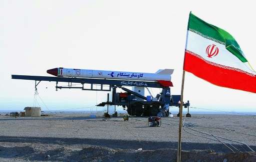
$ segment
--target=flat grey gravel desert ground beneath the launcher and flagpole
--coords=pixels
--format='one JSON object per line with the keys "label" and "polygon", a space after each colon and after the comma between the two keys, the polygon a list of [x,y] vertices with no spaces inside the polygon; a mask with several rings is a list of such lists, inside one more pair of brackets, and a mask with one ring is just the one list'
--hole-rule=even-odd
{"label": "flat grey gravel desert ground beneath the launcher and flagpole", "polygon": [[[185,119],[189,128],[239,141],[256,150],[256,117],[240,115],[195,115]],[[175,161],[178,118],[162,118],[160,127],[148,127],[147,118],[88,118],[86,114],[61,114],[50,117],[0,116],[0,161]],[[183,161],[256,161],[256,154],[245,145],[232,143],[247,153],[231,153],[213,140],[182,130]],[[232,146],[227,144],[234,151]],[[137,149],[142,149],[139,151]]]}

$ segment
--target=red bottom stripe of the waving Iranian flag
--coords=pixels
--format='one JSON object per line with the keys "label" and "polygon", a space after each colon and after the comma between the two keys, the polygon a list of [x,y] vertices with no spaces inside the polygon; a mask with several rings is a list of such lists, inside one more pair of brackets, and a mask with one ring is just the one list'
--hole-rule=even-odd
{"label": "red bottom stripe of the waving Iranian flag", "polygon": [[185,52],[183,69],[217,86],[256,93],[255,76],[208,64],[188,52]]}

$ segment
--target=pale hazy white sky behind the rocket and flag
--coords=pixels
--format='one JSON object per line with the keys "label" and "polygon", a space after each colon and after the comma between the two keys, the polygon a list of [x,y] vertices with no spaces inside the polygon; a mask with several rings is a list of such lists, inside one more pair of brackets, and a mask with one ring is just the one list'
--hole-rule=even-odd
{"label": "pale hazy white sky behind the rocket and flag", "polygon": [[[12,80],[11,74],[49,76],[46,70],[55,67],[172,68],[171,92],[180,94],[190,10],[233,35],[255,69],[254,6],[244,0],[0,0],[0,109],[33,105],[34,82]],[[106,99],[106,92],[55,91],[54,86],[38,86],[50,110],[88,107]],[[193,107],[256,112],[256,94],[217,87],[190,73],[185,74],[184,100]]]}

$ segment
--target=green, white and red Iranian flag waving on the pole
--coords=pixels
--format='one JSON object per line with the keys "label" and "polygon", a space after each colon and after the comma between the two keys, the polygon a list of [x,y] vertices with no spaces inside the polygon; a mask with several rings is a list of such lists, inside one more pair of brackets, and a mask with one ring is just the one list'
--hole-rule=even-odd
{"label": "green, white and red Iranian flag waving on the pole", "polygon": [[256,72],[232,35],[191,12],[183,69],[217,86],[256,93]]}

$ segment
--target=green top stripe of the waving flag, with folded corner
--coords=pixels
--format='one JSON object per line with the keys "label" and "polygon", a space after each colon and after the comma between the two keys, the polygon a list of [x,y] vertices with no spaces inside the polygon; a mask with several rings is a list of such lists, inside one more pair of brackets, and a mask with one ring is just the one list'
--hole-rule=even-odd
{"label": "green top stripe of the waving flag, with folded corner", "polygon": [[241,62],[248,62],[243,56],[240,46],[232,35],[221,28],[203,21],[202,19],[193,15],[191,12],[189,14],[187,29],[205,38],[224,44],[226,49],[235,55]]}

